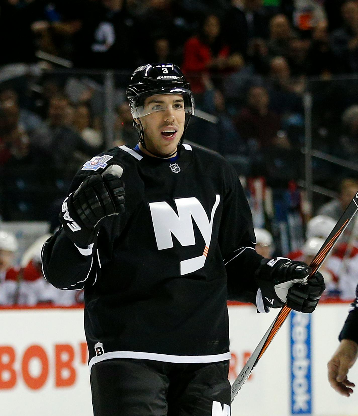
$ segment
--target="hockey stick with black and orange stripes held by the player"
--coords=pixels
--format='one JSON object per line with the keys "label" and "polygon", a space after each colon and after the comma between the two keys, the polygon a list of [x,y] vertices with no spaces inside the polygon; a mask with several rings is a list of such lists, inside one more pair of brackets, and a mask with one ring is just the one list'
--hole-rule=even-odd
{"label": "hockey stick with black and orange stripes held by the player", "polygon": [[[351,219],[353,218],[357,210],[358,210],[358,192],[356,193],[356,196],[353,197],[351,203],[348,205],[343,215],[341,216],[341,218],[338,220],[338,222],[334,226],[330,235],[328,235],[322,247],[318,250],[318,253],[314,257],[314,259],[311,261],[310,267],[312,267],[312,271],[309,274],[309,277],[314,275],[319,269],[319,267],[321,267],[324,259],[332,250],[332,248],[334,247],[334,245],[336,244],[338,240],[338,237],[346,229],[348,223],[351,221]],[[272,322],[266,334],[264,334],[264,337],[259,342],[259,345],[255,348],[254,352],[251,354],[251,357],[248,359],[247,363],[244,365],[244,368],[240,371],[240,374],[237,376],[236,380],[232,383],[231,402],[235,399],[237,393],[243,386],[244,382],[248,379],[249,375],[251,374],[252,370],[256,366],[257,362],[262,357],[262,354],[264,354],[267,347],[271,343],[272,339],[274,339],[274,336],[277,334],[278,330],[281,328],[282,324],[284,323],[285,319],[288,317],[290,312],[291,312],[291,308],[287,307],[286,305],[282,307],[276,319],[274,320],[274,322]]]}

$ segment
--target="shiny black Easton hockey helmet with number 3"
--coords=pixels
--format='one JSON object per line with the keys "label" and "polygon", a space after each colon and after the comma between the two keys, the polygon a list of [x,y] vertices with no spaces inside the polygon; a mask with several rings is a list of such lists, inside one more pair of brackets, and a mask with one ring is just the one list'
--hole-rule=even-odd
{"label": "shiny black Easton hockey helmet with number 3", "polygon": [[181,94],[183,96],[185,124],[180,144],[183,142],[189,119],[194,114],[194,98],[190,91],[190,84],[177,65],[165,63],[138,67],[131,76],[126,95],[131,107],[133,126],[138,131],[139,141],[145,149],[143,127],[140,121],[138,124],[134,119],[146,115],[143,113],[144,100],[157,94]]}

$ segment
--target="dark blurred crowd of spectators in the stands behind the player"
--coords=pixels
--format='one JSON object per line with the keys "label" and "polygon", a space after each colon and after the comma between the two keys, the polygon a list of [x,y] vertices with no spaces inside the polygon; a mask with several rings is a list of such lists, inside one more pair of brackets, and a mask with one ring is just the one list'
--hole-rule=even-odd
{"label": "dark blurred crowd of spectators in the stands behind the player", "polygon": [[[53,232],[77,169],[136,145],[125,87],[148,62],[183,69],[196,108],[217,118],[193,117],[186,140],[239,175],[285,189],[304,178],[306,92],[313,147],[356,163],[357,0],[0,0],[0,36],[0,220]],[[337,194],[358,177],[318,158],[313,175]],[[337,219],[340,195],[313,214]]]}

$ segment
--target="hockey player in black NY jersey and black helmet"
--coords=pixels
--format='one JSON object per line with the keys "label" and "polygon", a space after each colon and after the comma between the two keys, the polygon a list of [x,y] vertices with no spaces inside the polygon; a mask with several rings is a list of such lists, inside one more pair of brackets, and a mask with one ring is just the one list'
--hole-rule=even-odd
{"label": "hockey player in black NY jersey and black helmet", "polygon": [[183,144],[194,101],[177,66],[139,67],[127,97],[139,144],[84,163],[44,276],[84,288],[95,416],[230,415],[227,299],[312,312],[323,279],[256,253],[232,166]]}

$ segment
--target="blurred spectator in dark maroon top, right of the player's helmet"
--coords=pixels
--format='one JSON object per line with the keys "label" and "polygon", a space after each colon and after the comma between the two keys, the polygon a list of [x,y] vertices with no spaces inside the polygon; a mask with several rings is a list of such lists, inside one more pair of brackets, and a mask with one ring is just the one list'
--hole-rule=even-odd
{"label": "blurred spectator in dark maroon top, right of the player's helmet", "polygon": [[269,110],[269,94],[264,87],[253,86],[247,94],[247,106],[235,117],[237,131],[251,146],[258,150],[269,146],[289,146],[287,139],[280,139],[280,117]]}

